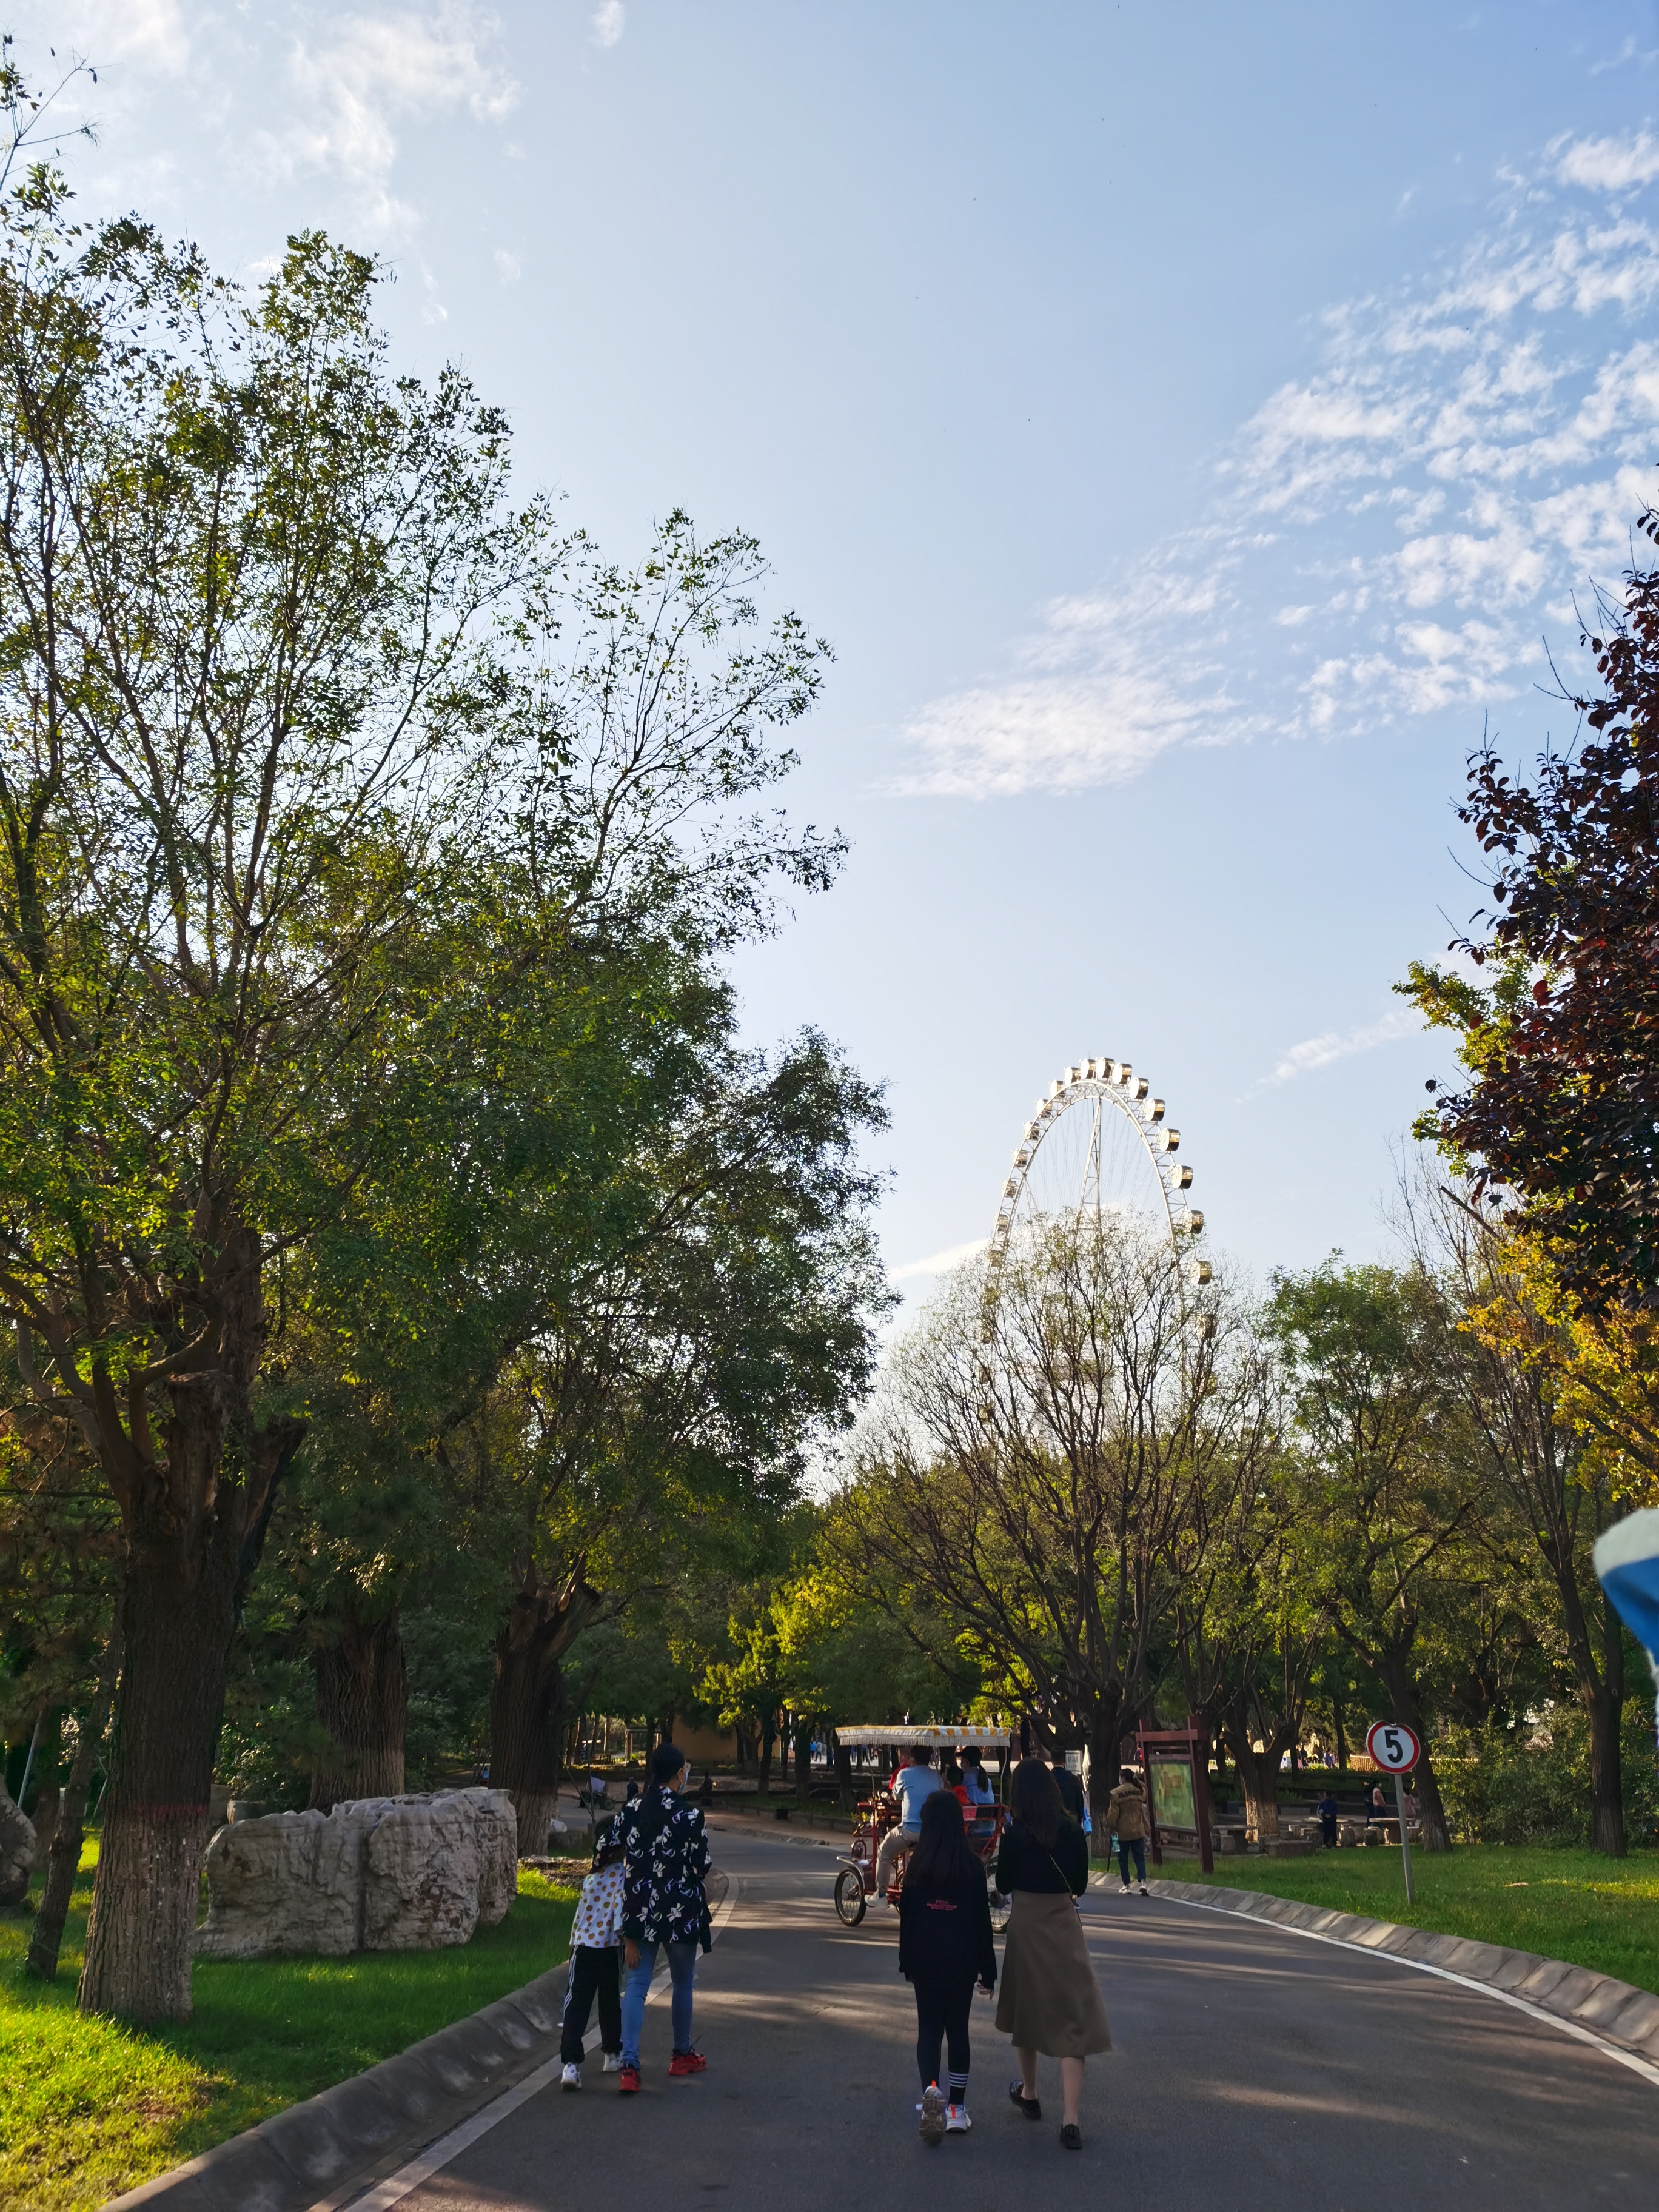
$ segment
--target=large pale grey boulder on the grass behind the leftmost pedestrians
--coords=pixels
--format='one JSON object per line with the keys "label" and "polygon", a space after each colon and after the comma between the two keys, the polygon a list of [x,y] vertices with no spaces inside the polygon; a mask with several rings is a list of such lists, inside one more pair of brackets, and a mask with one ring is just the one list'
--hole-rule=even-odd
{"label": "large pale grey boulder on the grass behind the leftmost pedestrians", "polygon": [[199,1958],[438,1951],[502,1920],[518,1823],[500,1790],[232,1820],[208,1845]]}

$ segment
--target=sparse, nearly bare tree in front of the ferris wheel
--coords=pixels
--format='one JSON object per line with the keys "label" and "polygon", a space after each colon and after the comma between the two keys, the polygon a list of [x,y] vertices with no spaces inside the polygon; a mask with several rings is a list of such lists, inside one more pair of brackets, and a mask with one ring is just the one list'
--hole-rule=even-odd
{"label": "sparse, nearly bare tree in front of the ferris wheel", "polygon": [[1197,1566],[1199,1500],[1254,1484],[1274,1440],[1267,1367],[1225,1294],[1197,1294],[1150,1230],[1053,1223],[993,1314],[967,1270],[900,1349],[838,1562],[900,1619],[920,1599],[1055,1741],[1084,1743],[1102,1809]]}

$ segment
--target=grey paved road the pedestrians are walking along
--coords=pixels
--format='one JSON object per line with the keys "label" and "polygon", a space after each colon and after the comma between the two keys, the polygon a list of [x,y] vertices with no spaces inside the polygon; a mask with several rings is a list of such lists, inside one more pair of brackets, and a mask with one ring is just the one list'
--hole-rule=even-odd
{"label": "grey paved road the pedestrians are walking along", "polygon": [[[827,1849],[728,1829],[732,1918],[699,1966],[708,2073],[668,2081],[646,2013],[644,2095],[533,2097],[405,2212],[1577,2212],[1659,2203],[1659,2086],[1473,1991],[1175,1902],[1084,1905],[1117,2048],[1088,2062],[1084,2150],[1006,2101],[1009,2046],[975,2000],[973,2132],[916,2137],[916,2013],[896,1916],[843,1929]],[[942,2190],[942,2199],[940,2199]],[[1060,2192],[1060,2194],[1055,2194]]]}

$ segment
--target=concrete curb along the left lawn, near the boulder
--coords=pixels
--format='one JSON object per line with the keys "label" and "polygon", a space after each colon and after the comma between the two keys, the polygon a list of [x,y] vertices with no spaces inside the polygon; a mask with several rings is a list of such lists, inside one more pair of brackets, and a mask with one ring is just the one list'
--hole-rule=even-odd
{"label": "concrete curb along the left lawn, near the boulder", "polygon": [[[717,1907],[730,1891],[719,1885]],[[571,1962],[456,2020],[396,2057],[290,2104],[199,2159],[111,2197],[102,2212],[314,2212],[345,2203],[513,2088],[557,2046]]]}

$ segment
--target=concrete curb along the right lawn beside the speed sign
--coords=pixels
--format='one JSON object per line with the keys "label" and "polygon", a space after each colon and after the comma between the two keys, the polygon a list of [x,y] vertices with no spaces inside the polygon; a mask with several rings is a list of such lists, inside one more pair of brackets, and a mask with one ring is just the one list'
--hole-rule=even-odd
{"label": "concrete curb along the right lawn beside the speed sign", "polygon": [[[1104,1885],[1091,1878],[1091,1889]],[[1473,1936],[1436,1936],[1431,1929],[1402,1929],[1394,1920],[1367,1920],[1360,1913],[1338,1913],[1323,1905],[1301,1905],[1296,1898],[1270,1898],[1259,1889],[1219,1889],[1210,1882],[1148,1885],[1155,1896],[1181,1905],[1208,1905],[1212,1911],[1243,1920],[1270,1920],[1276,1927],[1301,1929],[1307,1936],[1329,1936],[1336,1942],[1378,1951],[1387,1958],[1436,1966],[1464,1982],[1478,1982],[1502,1997],[1517,1997],[1542,2013],[1553,2013],[1568,2026],[1601,2042],[1617,2044],[1648,2064],[1659,2064],[1659,1997],[1650,1989],[1615,1982],[1610,1973],[1568,1966],[1559,1958],[1535,1951],[1509,1951]]]}

